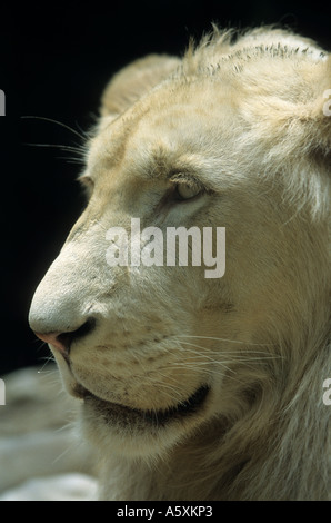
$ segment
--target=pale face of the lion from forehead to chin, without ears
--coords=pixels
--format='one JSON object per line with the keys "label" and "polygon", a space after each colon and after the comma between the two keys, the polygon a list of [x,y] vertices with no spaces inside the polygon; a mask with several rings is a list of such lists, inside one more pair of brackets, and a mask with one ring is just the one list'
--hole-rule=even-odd
{"label": "pale face of the lion from forehead to chin, without ears", "polygon": [[[254,362],[265,371],[278,356],[290,296],[299,307],[313,239],[287,199],[292,166],[273,158],[268,172],[260,115],[231,81],[173,78],[104,117],[81,176],[87,208],[33,297],[31,327],[82,398],[86,432],[118,452],[161,453],[231,415]],[[122,227],[129,248],[132,218],[163,238],[170,227],[224,227],[224,275],[205,277],[203,256],[167,265],[165,244],[163,264],[133,265],[129,254],[111,266],[119,244],[108,231]],[[213,235],[223,256],[219,247]]]}

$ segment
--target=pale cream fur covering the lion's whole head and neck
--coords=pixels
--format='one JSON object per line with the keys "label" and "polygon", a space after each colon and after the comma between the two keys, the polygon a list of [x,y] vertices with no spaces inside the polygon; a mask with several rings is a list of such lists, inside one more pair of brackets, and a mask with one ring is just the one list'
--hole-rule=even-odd
{"label": "pale cream fur covering the lion's whole head and neck", "polygon": [[[86,397],[81,417],[101,499],[329,499],[330,88],[330,55],[270,28],[214,29],[182,59],[148,57],[107,87],[89,205],[30,312],[38,333],[97,322],[70,368],[51,348],[69,392],[104,401]],[[183,170],[210,190],[162,207],[164,177]],[[106,231],[131,217],[225,227],[225,275],[111,269]],[[165,411],[202,384],[203,406],[165,427],[106,406]]]}

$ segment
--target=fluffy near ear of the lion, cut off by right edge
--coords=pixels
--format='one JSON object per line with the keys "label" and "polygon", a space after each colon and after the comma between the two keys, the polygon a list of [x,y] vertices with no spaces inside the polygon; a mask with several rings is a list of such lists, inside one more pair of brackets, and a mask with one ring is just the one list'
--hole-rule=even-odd
{"label": "fluffy near ear of the lion, cut off by right edge", "polygon": [[330,162],[331,55],[320,61],[301,60],[294,67],[292,59],[283,61],[278,88],[270,96],[250,99],[244,106],[247,118],[280,161],[299,155]]}

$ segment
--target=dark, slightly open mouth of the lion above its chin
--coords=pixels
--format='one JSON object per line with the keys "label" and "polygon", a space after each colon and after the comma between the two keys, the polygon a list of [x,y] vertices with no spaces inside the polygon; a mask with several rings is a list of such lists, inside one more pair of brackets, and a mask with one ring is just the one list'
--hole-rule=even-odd
{"label": "dark, slightly open mouth of the lion above its chin", "polygon": [[178,405],[163,411],[142,411],[131,408],[118,403],[101,399],[86,388],[79,386],[77,393],[87,404],[92,404],[108,420],[116,418],[123,423],[143,422],[151,426],[160,427],[167,425],[170,421],[190,416],[202,408],[210,388],[207,385],[199,387],[188,399]]}

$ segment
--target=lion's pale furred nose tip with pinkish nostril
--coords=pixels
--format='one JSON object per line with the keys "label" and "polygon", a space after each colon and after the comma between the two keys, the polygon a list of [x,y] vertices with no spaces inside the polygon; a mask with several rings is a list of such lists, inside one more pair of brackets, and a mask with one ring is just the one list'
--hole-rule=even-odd
{"label": "lion's pale furred nose tip with pinkish nostril", "polygon": [[69,243],[38,285],[31,302],[31,329],[63,355],[94,329],[103,310],[96,299],[103,282],[93,256],[82,245]]}

